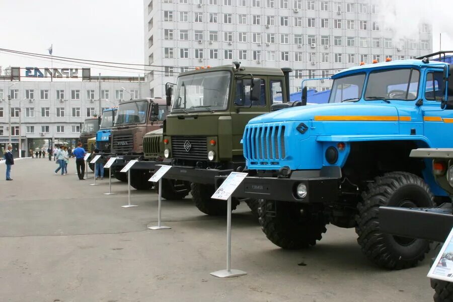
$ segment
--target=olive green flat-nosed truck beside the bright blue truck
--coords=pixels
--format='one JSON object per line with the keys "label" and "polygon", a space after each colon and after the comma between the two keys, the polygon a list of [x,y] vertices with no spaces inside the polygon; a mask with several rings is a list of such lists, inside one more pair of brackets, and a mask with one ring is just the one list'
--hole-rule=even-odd
{"label": "olive green flat-nosed truck beside the bright blue truck", "polygon": [[[203,213],[226,213],[225,201],[210,198],[214,179],[245,167],[241,139],[247,122],[273,109],[301,105],[288,103],[291,71],[246,67],[235,61],[179,75],[164,122],[164,157],[172,165],[165,178],[191,182],[192,199]],[[170,83],[166,95],[170,106]],[[256,210],[256,200],[244,201]],[[233,209],[238,204],[235,199]]]}

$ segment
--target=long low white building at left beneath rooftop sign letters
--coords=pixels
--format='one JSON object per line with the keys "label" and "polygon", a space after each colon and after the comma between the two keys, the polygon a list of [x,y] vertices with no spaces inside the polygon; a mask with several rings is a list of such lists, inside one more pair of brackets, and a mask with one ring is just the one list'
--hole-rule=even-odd
{"label": "long low white building at left beneath rooftop sign letters", "polygon": [[[23,73],[23,69],[19,72]],[[10,133],[15,152],[19,134],[22,150],[35,146],[33,141],[42,143],[44,140],[47,144],[62,140],[73,144],[80,135],[81,123],[87,117],[98,115],[125,100],[149,97],[143,77],[96,76],[84,80],[54,79],[53,82],[50,79],[29,80],[30,77],[23,75],[13,81],[11,76],[0,77],[1,148],[8,143]]]}

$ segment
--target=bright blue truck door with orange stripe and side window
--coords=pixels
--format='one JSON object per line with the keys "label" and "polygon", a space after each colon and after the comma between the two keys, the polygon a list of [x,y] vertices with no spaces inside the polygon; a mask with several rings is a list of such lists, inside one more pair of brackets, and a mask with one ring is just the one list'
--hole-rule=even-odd
{"label": "bright blue truck door with orange stripe and side window", "polygon": [[[451,81],[450,77],[450,83]],[[424,134],[431,142],[431,147],[453,147],[453,110],[441,109],[441,101],[447,95],[443,71],[427,70],[424,81],[423,127]],[[453,97],[453,90],[448,89],[448,95]]]}

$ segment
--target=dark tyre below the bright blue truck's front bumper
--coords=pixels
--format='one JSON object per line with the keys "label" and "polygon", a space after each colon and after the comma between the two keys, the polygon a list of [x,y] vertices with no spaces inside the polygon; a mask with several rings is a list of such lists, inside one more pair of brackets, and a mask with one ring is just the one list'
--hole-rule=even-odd
{"label": "dark tyre below the bright blue truck's front bumper", "polygon": [[296,202],[259,199],[258,214],[267,239],[283,249],[314,246],[327,231],[327,219],[322,211],[305,210]]}

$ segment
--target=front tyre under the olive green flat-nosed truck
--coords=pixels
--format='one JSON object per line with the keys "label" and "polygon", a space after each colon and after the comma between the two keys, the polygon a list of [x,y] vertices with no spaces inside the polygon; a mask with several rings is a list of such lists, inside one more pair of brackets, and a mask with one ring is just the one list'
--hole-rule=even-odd
{"label": "front tyre under the olive green flat-nosed truck", "polygon": [[[192,183],[190,185],[192,199],[195,201],[195,206],[203,213],[211,216],[226,215],[226,200],[211,199],[215,192],[214,185],[203,185]],[[231,201],[231,209],[235,210],[239,201],[233,198]]]}

